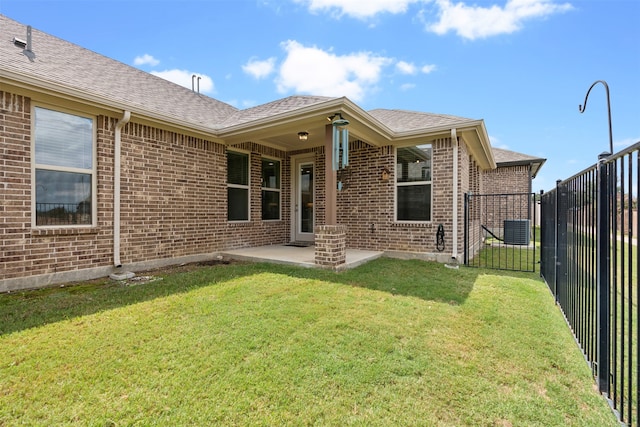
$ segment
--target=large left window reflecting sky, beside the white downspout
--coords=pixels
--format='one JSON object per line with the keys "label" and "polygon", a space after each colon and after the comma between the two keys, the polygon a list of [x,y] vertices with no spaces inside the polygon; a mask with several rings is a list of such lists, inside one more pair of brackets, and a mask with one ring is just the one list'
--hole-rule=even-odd
{"label": "large left window reflecting sky, beside the white downspout", "polygon": [[35,225],[93,224],[93,119],[35,107],[34,152]]}

